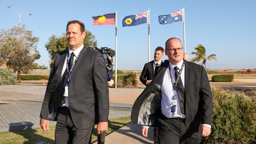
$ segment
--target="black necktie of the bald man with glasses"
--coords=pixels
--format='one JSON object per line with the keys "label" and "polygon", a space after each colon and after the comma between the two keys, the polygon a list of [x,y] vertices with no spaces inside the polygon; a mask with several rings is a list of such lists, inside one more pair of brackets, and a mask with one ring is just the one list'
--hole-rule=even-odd
{"label": "black necktie of the bald man with glasses", "polygon": [[[175,69],[175,79],[177,82],[177,79],[179,76],[179,72],[178,72],[179,68],[177,66],[175,66],[174,69]],[[177,83],[177,89],[178,89],[178,96],[179,96],[179,100],[180,100],[180,111],[181,111],[181,113],[186,114],[185,105],[184,105],[184,87],[183,87],[181,78],[179,79],[179,81]]]}

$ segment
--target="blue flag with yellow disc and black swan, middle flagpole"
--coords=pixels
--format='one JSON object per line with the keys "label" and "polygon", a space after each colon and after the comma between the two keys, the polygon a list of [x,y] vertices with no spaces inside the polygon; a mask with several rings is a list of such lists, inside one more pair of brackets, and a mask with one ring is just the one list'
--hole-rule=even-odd
{"label": "blue flag with yellow disc and black swan, middle flagpole", "polygon": [[122,26],[137,26],[147,23],[148,11],[139,15],[128,15],[122,19]]}

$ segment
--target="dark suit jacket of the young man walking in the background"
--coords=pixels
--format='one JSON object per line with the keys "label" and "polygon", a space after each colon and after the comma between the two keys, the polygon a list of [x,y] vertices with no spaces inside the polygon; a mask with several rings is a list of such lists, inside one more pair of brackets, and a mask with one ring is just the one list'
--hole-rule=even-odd
{"label": "dark suit jacket of the young man walking in the background", "polygon": [[[161,61],[163,63],[163,61]],[[155,76],[154,72],[154,60],[146,63],[143,67],[143,70],[141,72],[141,76],[139,77],[139,80],[144,85],[147,85],[147,80],[152,80]]]}

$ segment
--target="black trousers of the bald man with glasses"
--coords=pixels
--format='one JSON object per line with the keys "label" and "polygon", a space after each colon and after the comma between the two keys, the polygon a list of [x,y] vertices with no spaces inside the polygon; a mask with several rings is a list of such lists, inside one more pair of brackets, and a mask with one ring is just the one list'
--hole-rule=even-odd
{"label": "black trousers of the bald man with glasses", "polygon": [[163,114],[158,118],[158,144],[199,144],[200,131],[188,133],[185,120],[166,118]]}

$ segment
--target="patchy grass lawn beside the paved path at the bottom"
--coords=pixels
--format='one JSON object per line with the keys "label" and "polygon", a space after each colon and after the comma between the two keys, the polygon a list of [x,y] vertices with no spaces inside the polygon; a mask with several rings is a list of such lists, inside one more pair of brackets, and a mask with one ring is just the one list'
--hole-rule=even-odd
{"label": "patchy grass lawn beside the paved path at the bottom", "polygon": [[[130,116],[113,118],[108,120],[108,134],[131,122]],[[41,128],[27,129],[22,131],[0,133],[0,144],[35,144],[44,141],[45,144],[54,144],[55,126],[50,126],[49,131]],[[92,142],[97,140],[96,127],[93,130]]]}

